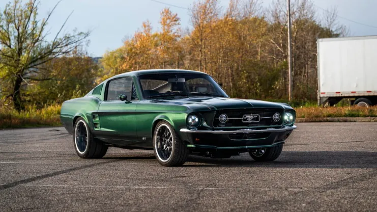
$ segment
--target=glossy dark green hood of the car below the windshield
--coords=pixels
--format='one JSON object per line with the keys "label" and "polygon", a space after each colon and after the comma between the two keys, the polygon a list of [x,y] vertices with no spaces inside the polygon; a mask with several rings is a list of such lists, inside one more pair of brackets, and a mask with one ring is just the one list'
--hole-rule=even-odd
{"label": "glossy dark green hood of the car below the windshield", "polygon": [[199,105],[210,110],[238,109],[238,108],[276,108],[292,109],[288,104],[269,101],[236,99],[225,97],[189,97],[183,99],[163,100],[166,103],[186,105],[188,108],[197,108]]}

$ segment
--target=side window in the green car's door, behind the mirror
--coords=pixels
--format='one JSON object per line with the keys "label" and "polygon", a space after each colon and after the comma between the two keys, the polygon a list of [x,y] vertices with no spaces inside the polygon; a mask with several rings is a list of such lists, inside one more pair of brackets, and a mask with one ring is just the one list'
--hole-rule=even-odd
{"label": "side window in the green car's door, behind the mirror", "polygon": [[[134,86],[132,82],[132,77],[122,77],[116,80],[112,80],[108,83],[107,86],[107,101],[117,101],[119,95],[126,94],[129,100],[136,100],[136,92],[133,92]],[[135,94],[134,94],[135,93]],[[136,99],[135,99],[136,95]]]}

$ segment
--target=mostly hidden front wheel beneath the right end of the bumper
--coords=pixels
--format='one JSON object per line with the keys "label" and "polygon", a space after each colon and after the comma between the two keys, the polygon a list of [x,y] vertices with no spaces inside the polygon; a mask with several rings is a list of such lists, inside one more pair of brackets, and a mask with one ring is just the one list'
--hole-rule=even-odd
{"label": "mostly hidden front wheel beneath the right end of the bumper", "polygon": [[283,150],[283,144],[278,144],[273,147],[255,148],[249,151],[250,156],[257,162],[274,161],[280,156]]}

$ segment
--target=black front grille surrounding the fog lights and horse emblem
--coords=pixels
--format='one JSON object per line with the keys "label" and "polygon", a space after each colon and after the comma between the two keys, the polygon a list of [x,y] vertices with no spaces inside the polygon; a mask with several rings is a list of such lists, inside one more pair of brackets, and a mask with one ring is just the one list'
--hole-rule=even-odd
{"label": "black front grille surrounding the fog lights and horse emblem", "polygon": [[[273,115],[275,113],[280,113],[283,116],[283,109],[225,109],[218,110],[216,112],[213,126],[214,127],[253,127],[253,126],[271,126],[271,125],[281,125],[282,118],[278,122],[273,120]],[[221,114],[226,114],[228,120],[225,123],[219,121],[219,116]],[[242,122],[242,117],[244,115],[259,115],[258,122]]]}

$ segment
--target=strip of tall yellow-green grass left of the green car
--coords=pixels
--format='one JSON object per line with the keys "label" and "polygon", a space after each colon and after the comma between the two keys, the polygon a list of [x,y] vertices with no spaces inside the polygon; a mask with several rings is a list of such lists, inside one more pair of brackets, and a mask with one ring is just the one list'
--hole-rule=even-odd
{"label": "strip of tall yellow-green grass left of the green car", "polygon": [[0,129],[41,126],[61,126],[60,105],[49,105],[42,109],[27,107],[17,112],[10,107],[0,107]]}

